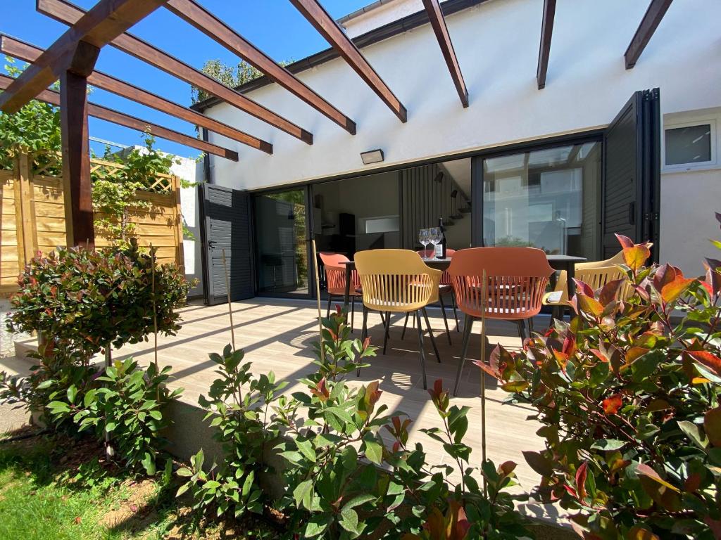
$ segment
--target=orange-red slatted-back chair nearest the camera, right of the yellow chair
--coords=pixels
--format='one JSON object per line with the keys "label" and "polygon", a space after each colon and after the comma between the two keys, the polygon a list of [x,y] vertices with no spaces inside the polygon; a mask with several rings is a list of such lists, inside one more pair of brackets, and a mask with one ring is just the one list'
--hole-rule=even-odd
{"label": "orange-red slatted-back chair nearest the camera, right of the yellow chair", "polygon": [[[487,298],[482,300],[483,271],[486,274]],[[459,251],[448,268],[464,320],[461,361],[456,374],[454,395],[466,361],[473,321],[481,318],[513,320],[518,336],[526,338],[523,323],[538,315],[553,269],[546,254],[536,248],[470,248]]]}

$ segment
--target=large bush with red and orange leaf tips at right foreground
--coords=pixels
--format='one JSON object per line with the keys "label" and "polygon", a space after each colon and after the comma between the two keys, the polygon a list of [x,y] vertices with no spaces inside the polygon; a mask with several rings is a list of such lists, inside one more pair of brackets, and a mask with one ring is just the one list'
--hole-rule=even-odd
{"label": "large bush with red and orange leaf tips at right foreground", "polygon": [[720,538],[721,261],[687,279],[619,240],[625,279],[578,282],[570,323],[482,368],[538,411],[546,448],[525,453],[537,495],[577,511],[580,536]]}

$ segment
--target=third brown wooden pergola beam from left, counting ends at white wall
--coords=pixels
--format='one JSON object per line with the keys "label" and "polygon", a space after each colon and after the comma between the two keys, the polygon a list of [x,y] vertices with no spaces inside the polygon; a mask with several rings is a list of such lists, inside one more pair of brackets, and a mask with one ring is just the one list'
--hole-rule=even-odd
{"label": "third brown wooden pergola beam from left, counting ends at white wall", "polygon": [[[65,0],[37,0],[37,11],[64,24],[75,24],[84,14],[82,9]],[[311,132],[298,127],[290,120],[275,114],[270,109],[266,109],[252,99],[239,94],[239,92],[219,83],[214,78],[205,75],[202,71],[188,66],[186,63],[164,53],[138,37],[125,32],[112,40],[110,45],[174,77],[180,78],[196,88],[203,89],[208,94],[217,96],[224,102],[251,114],[258,120],[277,127],[289,135],[293,135],[293,137],[302,140],[304,143],[313,144],[313,134]]]}

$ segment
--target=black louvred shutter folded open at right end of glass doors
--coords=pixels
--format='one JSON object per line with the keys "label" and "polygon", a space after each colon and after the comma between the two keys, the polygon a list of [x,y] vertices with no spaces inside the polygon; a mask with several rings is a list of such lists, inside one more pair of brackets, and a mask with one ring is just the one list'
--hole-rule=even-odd
{"label": "black louvred shutter folded open at right end of glass doors", "polygon": [[658,261],[659,196],[659,91],[637,91],[603,135],[603,258],[618,253],[619,233],[653,241]]}

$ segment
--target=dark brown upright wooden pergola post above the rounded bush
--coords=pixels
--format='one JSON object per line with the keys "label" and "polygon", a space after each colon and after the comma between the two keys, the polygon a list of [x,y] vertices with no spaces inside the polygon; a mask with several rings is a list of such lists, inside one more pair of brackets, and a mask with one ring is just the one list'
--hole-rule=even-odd
{"label": "dark brown upright wooden pergola post above the rounded bush", "polygon": [[87,77],[99,48],[80,41],[60,74],[60,118],[63,146],[63,194],[68,246],[95,247],[88,141]]}

